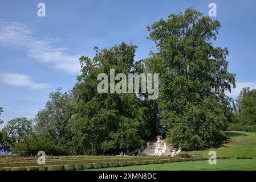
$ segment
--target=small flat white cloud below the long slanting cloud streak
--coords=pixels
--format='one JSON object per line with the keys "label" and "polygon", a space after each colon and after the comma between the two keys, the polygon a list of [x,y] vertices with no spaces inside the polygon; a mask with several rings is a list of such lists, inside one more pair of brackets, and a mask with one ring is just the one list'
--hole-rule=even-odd
{"label": "small flat white cloud below the long slanting cloud streak", "polygon": [[48,84],[37,84],[27,75],[19,73],[5,73],[0,75],[0,81],[11,86],[23,86],[30,89],[47,89],[51,86]]}

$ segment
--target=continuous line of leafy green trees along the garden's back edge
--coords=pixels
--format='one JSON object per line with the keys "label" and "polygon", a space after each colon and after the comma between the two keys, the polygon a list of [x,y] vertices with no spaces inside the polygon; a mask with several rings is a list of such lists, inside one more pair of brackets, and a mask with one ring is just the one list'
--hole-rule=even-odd
{"label": "continuous line of leafy green trees along the garden's back edge", "polygon": [[[243,89],[237,104],[225,95],[235,86],[235,74],[227,71],[227,48],[213,46],[220,27],[190,8],[147,27],[156,51],[146,59],[134,60],[132,44],[95,47],[93,59],[80,57],[74,88],[51,93],[34,119],[9,121],[0,133],[1,147],[33,154],[116,154],[162,135],[184,150],[200,150],[220,144],[229,123],[255,125],[255,90]],[[110,69],[159,73],[159,98],[98,93],[97,75],[109,77]]]}

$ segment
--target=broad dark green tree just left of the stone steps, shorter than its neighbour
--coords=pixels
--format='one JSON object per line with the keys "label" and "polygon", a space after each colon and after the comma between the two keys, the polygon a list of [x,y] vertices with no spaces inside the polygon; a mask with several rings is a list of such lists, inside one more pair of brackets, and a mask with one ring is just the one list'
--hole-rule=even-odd
{"label": "broad dark green tree just left of the stone steps, shorter than its neighbour", "polygon": [[97,93],[99,73],[109,76],[110,69],[115,69],[115,74],[132,72],[136,46],[121,43],[95,51],[93,59],[80,57],[82,75],[74,87],[73,148],[78,154],[101,154],[139,147],[147,130],[144,108],[136,94]]}

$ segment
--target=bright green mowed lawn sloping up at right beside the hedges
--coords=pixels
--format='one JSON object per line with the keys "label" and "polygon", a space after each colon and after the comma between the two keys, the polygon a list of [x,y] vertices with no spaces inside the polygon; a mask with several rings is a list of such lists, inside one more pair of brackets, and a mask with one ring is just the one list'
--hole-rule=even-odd
{"label": "bright green mowed lawn sloping up at right beside the hedges", "polygon": [[[210,165],[208,160],[195,162],[175,162],[165,164],[149,164],[144,166],[127,166],[90,170],[256,170],[256,133],[243,131],[225,131],[228,139],[221,146],[204,151],[190,151],[189,154],[201,154],[209,157],[209,151],[216,151],[217,156],[230,156],[231,159],[217,160],[216,165]],[[237,156],[250,156],[253,159],[236,159]]]}

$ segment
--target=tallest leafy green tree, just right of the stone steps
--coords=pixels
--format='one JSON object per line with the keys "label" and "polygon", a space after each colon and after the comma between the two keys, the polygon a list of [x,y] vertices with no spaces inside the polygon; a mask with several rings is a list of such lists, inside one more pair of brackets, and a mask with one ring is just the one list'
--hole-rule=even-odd
{"label": "tallest leafy green tree, just right of the stone steps", "polygon": [[221,142],[225,113],[220,94],[235,86],[227,48],[213,47],[220,22],[193,9],[148,27],[157,52],[145,63],[160,73],[160,120],[170,142],[186,150]]}

